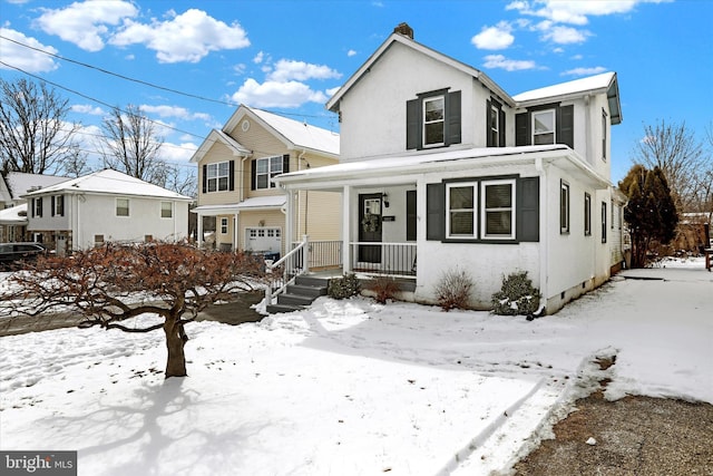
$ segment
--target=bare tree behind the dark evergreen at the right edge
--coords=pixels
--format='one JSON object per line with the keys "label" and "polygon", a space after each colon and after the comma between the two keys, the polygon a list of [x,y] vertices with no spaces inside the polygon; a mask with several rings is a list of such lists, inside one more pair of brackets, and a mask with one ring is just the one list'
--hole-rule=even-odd
{"label": "bare tree behind the dark evergreen at the right edge", "polygon": [[635,147],[634,161],[648,169],[658,167],[666,177],[676,208],[683,213],[695,202],[696,177],[703,165],[703,148],[685,123],[644,126],[644,139]]}

